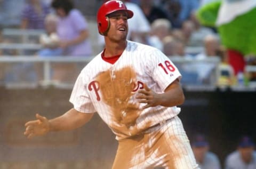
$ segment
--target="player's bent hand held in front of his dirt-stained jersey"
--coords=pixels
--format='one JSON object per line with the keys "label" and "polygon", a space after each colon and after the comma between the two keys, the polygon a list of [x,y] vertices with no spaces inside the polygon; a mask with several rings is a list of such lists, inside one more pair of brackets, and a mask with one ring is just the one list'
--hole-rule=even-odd
{"label": "player's bent hand held in front of his dirt-stained jersey", "polygon": [[161,98],[160,94],[155,93],[152,91],[146,84],[144,84],[144,89],[138,91],[138,96],[136,97],[139,100],[139,103],[146,103],[145,106],[143,106],[143,109],[149,108],[149,107],[155,107],[160,104]]}

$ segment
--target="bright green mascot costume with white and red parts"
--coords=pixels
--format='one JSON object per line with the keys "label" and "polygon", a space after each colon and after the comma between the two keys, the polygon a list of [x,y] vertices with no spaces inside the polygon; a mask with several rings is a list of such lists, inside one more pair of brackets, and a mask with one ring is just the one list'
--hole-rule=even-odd
{"label": "bright green mascot costume with white and red parts", "polygon": [[246,55],[256,55],[256,0],[223,0],[202,6],[197,18],[215,27],[235,74],[244,71]]}

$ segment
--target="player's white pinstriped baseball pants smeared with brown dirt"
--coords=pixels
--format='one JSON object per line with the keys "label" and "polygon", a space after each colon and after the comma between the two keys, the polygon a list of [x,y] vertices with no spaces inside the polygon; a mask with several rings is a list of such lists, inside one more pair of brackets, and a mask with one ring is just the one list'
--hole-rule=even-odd
{"label": "player's white pinstriped baseball pants smeared with brown dirt", "polygon": [[120,140],[112,169],[199,169],[179,117]]}

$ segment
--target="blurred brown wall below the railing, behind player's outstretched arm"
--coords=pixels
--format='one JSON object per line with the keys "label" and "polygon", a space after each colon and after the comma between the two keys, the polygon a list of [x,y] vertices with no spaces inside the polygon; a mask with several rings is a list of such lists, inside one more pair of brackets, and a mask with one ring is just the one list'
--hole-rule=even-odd
{"label": "blurred brown wall below the railing, behind player's outstretched arm", "polygon": [[[0,168],[111,168],[117,142],[94,115],[78,130],[28,140],[23,132],[35,114],[53,118],[72,107],[70,90],[0,90]],[[102,167],[104,166],[104,167]]]}

